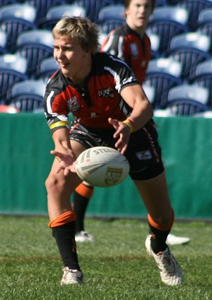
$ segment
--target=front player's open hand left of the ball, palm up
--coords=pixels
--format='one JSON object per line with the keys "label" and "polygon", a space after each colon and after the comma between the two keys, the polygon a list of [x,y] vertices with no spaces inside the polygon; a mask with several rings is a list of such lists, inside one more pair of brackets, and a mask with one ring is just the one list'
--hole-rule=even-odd
{"label": "front player's open hand left of the ball, palm up", "polygon": [[55,150],[50,151],[50,153],[55,157],[58,157],[60,160],[57,173],[59,173],[61,170],[64,170],[65,176],[68,176],[70,173],[76,173],[76,169],[75,169],[76,158],[71,157],[71,155],[67,153],[62,153]]}

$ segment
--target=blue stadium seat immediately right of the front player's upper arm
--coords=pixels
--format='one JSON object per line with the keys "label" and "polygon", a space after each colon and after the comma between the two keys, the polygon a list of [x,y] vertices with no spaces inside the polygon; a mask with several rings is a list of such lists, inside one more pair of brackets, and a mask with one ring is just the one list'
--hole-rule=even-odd
{"label": "blue stadium seat immediately right of the front player's upper arm", "polygon": [[167,102],[168,90],[182,84],[181,71],[181,64],[170,58],[152,59],[149,62],[144,83],[155,89],[152,102],[154,109],[163,108]]}

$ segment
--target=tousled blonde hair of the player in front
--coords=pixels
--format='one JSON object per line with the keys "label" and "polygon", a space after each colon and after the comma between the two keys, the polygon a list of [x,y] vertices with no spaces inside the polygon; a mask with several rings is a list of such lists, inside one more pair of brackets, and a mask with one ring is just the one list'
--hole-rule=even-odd
{"label": "tousled blonde hair of the player in front", "polygon": [[52,30],[52,35],[56,37],[77,37],[81,47],[93,54],[98,51],[99,28],[95,23],[90,22],[88,18],[76,16],[64,16],[57,22]]}

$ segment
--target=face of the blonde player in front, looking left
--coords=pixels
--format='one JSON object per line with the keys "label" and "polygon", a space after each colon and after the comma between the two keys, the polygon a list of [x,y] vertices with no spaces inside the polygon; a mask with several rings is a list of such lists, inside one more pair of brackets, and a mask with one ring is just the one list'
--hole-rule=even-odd
{"label": "face of the blonde player in front, looking left", "polygon": [[80,83],[90,69],[90,52],[86,52],[76,37],[56,37],[54,39],[54,59],[57,60],[64,76]]}

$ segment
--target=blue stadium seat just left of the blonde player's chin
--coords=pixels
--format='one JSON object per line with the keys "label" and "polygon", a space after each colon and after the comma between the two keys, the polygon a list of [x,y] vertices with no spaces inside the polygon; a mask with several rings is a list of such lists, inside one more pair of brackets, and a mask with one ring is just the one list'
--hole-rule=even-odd
{"label": "blue stadium seat just left of the blonde player's chin", "polygon": [[47,57],[47,59],[42,59],[37,67],[37,79],[42,79],[47,82],[47,80],[52,76],[52,74],[59,69],[59,65],[54,57]]}

